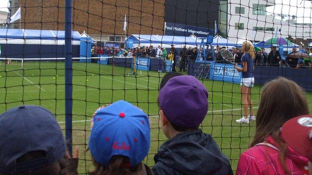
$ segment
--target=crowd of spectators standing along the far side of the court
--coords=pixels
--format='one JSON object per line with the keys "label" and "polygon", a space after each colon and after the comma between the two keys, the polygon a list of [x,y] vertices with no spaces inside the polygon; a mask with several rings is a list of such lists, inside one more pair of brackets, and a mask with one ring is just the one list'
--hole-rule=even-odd
{"label": "crowd of spectators standing along the far side of the court", "polygon": [[[204,51],[205,49],[201,47],[199,50],[197,47],[189,46],[186,48],[185,46],[180,50],[179,54],[171,45],[168,52],[166,48],[161,48],[158,45],[154,48],[152,45],[149,47],[142,46],[142,47],[133,47],[131,49],[124,48],[114,48],[114,47],[102,47],[99,45],[92,46],[91,54],[107,54],[111,56],[127,56],[127,57],[158,57],[162,59],[172,60],[172,71],[175,71],[175,66],[179,66],[179,71],[187,71],[187,63],[188,61],[193,61],[195,59],[200,60],[215,60],[215,61],[224,61],[223,57],[220,54],[220,49],[226,47],[219,47],[216,46],[214,49],[213,46],[206,50],[206,57],[204,58]],[[198,53],[199,52],[199,53]],[[213,54],[212,54],[213,52]],[[234,63],[241,63],[241,56],[243,52],[240,48],[232,47],[232,62]],[[301,56],[298,56],[302,53]],[[180,59],[177,60],[176,56],[179,56]],[[213,57],[214,56],[214,57]],[[179,63],[177,65],[176,63]],[[297,51],[296,48],[292,49],[292,52],[286,56],[286,59],[282,59],[280,53],[276,50],[276,46],[272,46],[270,52],[265,52],[264,48],[256,51],[254,56],[254,64],[260,66],[275,66],[275,67],[293,67],[293,68],[312,68],[312,47],[306,47],[303,50],[303,47],[300,46],[299,50]]]}

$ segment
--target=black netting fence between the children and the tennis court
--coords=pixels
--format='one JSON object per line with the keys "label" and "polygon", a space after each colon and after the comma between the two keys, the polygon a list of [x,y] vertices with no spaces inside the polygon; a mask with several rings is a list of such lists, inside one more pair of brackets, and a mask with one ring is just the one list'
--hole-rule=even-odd
{"label": "black netting fence between the children and the tennis court", "polygon": [[[200,128],[212,135],[234,171],[255,131],[255,121],[236,120],[256,116],[265,82],[278,76],[294,80],[312,109],[309,0],[72,0],[71,67],[65,62],[65,1],[7,1],[0,24],[0,112],[20,104],[43,106],[64,134],[66,127],[72,131],[72,147],[81,152],[88,148],[93,112],[125,100],[149,116],[144,163],[152,167],[167,140],[157,95],[170,71],[195,76],[207,88],[209,110]],[[248,114],[241,102],[242,75],[234,68],[241,67],[244,42],[255,50]],[[90,169],[89,153],[80,154],[79,174]]]}

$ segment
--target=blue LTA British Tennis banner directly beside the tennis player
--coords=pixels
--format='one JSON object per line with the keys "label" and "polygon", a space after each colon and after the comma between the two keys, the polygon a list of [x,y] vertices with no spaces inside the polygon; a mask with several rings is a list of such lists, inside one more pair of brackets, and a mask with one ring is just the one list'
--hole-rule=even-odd
{"label": "blue LTA British Tennis banner directly beside the tennis player", "polygon": [[[238,65],[238,67],[241,67],[241,65]],[[240,83],[241,72],[234,69],[233,64],[211,63],[209,79]]]}

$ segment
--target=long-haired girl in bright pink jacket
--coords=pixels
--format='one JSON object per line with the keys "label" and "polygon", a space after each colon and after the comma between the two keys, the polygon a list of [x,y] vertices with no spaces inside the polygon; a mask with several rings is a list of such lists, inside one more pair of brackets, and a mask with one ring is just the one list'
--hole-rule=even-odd
{"label": "long-haired girl in bright pink jacket", "polygon": [[250,148],[240,155],[236,175],[308,175],[307,158],[281,137],[287,120],[308,114],[303,90],[293,81],[277,78],[263,87]]}

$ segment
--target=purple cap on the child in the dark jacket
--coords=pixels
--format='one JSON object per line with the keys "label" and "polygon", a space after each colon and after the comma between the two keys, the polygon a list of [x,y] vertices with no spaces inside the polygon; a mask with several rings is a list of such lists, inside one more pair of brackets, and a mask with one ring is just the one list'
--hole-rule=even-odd
{"label": "purple cap on the child in the dark jacket", "polygon": [[159,91],[158,102],[170,123],[186,129],[196,128],[208,112],[208,91],[193,76],[177,76]]}

